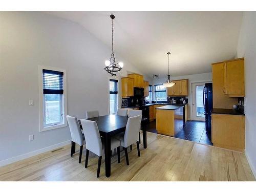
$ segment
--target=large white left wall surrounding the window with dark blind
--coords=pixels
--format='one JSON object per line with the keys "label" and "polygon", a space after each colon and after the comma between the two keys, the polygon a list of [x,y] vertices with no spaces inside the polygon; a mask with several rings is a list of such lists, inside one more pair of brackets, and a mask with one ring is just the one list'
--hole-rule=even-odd
{"label": "large white left wall surrounding the window with dark blind", "polygon": [[[108,114],[111,75],[103,68],[109,46],[65,19],[41,12],[0,12],[0,165],[71,139],[68,127],[39,132],[38,65],[67,70],[69,115],[84,118],[86,110]],[[143,75],[117,53],[116,58],[124,62],[119,80],[127,71]]]}

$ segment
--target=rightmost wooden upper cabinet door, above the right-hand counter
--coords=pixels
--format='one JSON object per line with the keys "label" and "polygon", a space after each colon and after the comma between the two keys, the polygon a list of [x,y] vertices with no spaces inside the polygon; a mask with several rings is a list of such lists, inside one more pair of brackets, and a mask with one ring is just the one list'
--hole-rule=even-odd
{"label": "rightmost wooden upper cabinet door, above the right-hand counter", "polygon": [[244,58],[224,61],[224,93],[244,97]]}

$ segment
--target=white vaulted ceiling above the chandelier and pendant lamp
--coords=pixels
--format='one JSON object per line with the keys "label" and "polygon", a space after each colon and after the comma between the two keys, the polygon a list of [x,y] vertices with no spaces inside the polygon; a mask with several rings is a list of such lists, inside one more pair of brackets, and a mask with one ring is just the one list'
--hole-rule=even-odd
{"label": "white vaulted ceiling above the chandelier and pendant lamp", "polygon": [[47,13],[79,23],[110,47],[110,14],[114,14],[114,52],[145,74],[160,77],[168,73],[168,51],[172,76],[210,72],[212,62],[233,58],[243,17],[242,12],[230,11]]}

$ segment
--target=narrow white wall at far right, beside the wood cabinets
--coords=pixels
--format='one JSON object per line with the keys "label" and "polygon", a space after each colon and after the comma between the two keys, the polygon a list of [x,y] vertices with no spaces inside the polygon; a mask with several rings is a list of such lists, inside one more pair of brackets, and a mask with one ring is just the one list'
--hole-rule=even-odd
{"label": "narrow white wall at far right, beside the wood cabinets", "polygon": [[244,12],[237,57],[245,57],[245,153],[256,178],[256,12]]}

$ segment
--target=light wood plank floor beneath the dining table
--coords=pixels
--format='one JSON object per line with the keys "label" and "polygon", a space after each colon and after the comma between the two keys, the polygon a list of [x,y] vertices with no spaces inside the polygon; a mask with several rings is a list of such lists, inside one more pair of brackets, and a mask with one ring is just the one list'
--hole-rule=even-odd
{"label": "light wood plank floor beneath the dining table", "polygon": [[255,181],[243,153],[149,132],[147,138],[148,147],[140,145],[141,157],[136,145],[129,152],[129,166],[123,152],[120,164],[112,157],[109,178],[104,158],[96,178],[98,157],[91,154],[84,168],[84,156],[79,164],[78,153],[70,157],[67,145],[0,167],[0,181]]}

